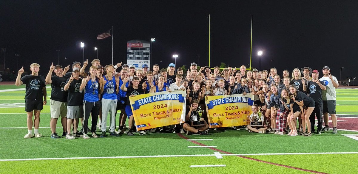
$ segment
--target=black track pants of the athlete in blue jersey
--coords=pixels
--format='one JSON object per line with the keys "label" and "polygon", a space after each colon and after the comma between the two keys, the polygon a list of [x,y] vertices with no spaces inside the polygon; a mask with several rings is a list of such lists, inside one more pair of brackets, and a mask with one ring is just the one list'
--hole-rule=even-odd
{"label": "black track pants of the athlete in blue jersey", "polygon": [[92,124],[91,124],[91,132],[96,132],[97,128],[97,118],[100,113],[101,102],[87,102],[84,101],[84,121],[83,121],[83,132],[87,134],[88,129],[88,118],[89,114],[92,115]]}

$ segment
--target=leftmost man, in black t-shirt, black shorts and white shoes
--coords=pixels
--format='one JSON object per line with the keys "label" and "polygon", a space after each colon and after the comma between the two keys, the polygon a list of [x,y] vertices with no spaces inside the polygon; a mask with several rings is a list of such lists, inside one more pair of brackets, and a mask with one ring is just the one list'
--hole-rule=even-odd
{"label": "leftmost man, in black t-shirt, black shorts and white shoes", "polygon": [[[30,75],[26,75],[21,78],[21,75],[24,73],[24,67],[22,67],[19,70],[18,77],[16,77],[15,81],[16,86],[25,84],[26,88],[25,111],[27,112],[28,133],[24,136],[24,138],[32,138],[34,136],[43,137],[43,135],[39,133],[40,112],[43,109],[43,105],[47,103],[45,78],[38,74],[40,71],[40,65],[37,63],[32,63],[30,65],[30,70]],[[42,97],[44,98],[43,101]],[[33,115],[35,116],[34,122],[32,122]],[[35,127],[34,135],[32,134],[33,124]]]}

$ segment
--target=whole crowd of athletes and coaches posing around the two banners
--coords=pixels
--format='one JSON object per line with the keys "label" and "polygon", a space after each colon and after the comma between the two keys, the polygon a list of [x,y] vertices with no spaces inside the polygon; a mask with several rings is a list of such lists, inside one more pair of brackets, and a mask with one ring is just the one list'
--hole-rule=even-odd
{"label": "whole crowd of athletes and coaches posing around the two banners", "polygon": [[[69,65],[70,66],[70,65]],[[333,132],[337,133],[337,117],[335,115],[335,88],[338,87],[337,78],[330,75],[329,66],[322,69],[323,77],[319,78],[319,71],[309,67],[292,71],[283,71],[282,77],[276,68],[258,71],[246,71],[242,65],[240,71],[236,67],[221,68],[209,66],[198,70],[195,62],[190,64],[187,72],[170,63],[168,67],[160,69],[154,64],[152,70],[144,64],[141,69],[134,65],[106,65],[103,67],[99,59],[91,62],[89,71],[85,72],[88,60],[73,62],[70,67],[51,65],[46,77],[38,74],[40,65],[30,65],[31,74],[21,77],[24,67],[19,70],[15,85],[25,84],[25,111],[27,112],[28,133],[24,138],[43,137],[39,133],[40,112],[47,103],[46,84],[51,85],[50,97],[50,129],[51,138],[61,138],[56,132],[58,118],[61,117],[63,137],[75,139],[83,137],[106,137],[107,117],[109,114],[109,135],[119,136],[121,133],[134,135],[136,128],[129,102],[129,97],[144,93],[161,91],[186,91],[186,120],[173,128],[174,133],[208,134],[208,124],[205,126],[191,126],[198,116],[198,108],[205,108],[205,96],[252,93],[254,97],[253,113],[248,119],[262,117],[261,127],[248,126],[250,132],[295,136],[311,136],[314,130],[315,117],[318,120],[316,133],[328,131],[328,113],[332,118]],[[176,70],[176,71],[175,71]],[[54,73],[54,75],[53,75]],[[119,117],[116,117],[120,110]],[[325,127],[323,127],[323,118]],[[34,120],[33,120],[34,117]],[[91,117],[91,128],[88,120]],[[99,119],[98,119],[99,117]],[[297,131],[296,118],[299,128]],[[126,130],[126,119],[128,130]],[[207,120],[204,112],[203,120]],[[116,119],[119,126],[116,127]],[[82,129],[78,131],[78,123],[82,122]],[[98,122],[97,122],[98,121]],[[287,126],[288,127],[287,127]],[[34,133],[32,126],[35,127]],[[307,126],[307,127],[306,127]],[[72,129],[71,129],[72,127]],[[97,135],[97,127],[101,134]],[[307,128],[307,130],[306,130]],[[289,130],[289,131],[287,131]],[[72,131],[72,133],[71,133]],[[147,131],[156,131],[155,129]],[[140,135],[147,131],[140,131]],[[88,132],[91,132],[88,135]]]}

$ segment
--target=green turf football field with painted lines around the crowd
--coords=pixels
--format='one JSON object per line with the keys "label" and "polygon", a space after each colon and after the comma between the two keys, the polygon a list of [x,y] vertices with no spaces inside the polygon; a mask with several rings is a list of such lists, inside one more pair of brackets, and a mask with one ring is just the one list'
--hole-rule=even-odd
{"label": "green turf football field with painted lines around the crowd", "polygon": [[50,88],[40,117],[44,137],[24,139],[24,90],[3,91],[15,88],[0,85],[0,173],[357,173],[358,89],[337,89],[338,134],[289,137],[243,129],[67,140],[50,138]]}

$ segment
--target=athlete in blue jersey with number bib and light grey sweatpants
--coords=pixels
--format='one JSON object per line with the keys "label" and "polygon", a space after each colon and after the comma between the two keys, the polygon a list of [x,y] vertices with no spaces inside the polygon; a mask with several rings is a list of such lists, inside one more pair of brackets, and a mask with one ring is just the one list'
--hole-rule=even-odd
{"label": "athlete in blue jersey with number bib and light grey sweatpants", "polygon": [[106,65],[105,70],[107,75],[100,79],[100,93],[102,97],[102,122],[101,122],[101,137],[106,136],[107,129],[107,114],[110,112],[110,135],[118,136],[115,128],[116,107],[117,107],[117,93],[119,92],[119,80],[113,76],[113,65]]}

